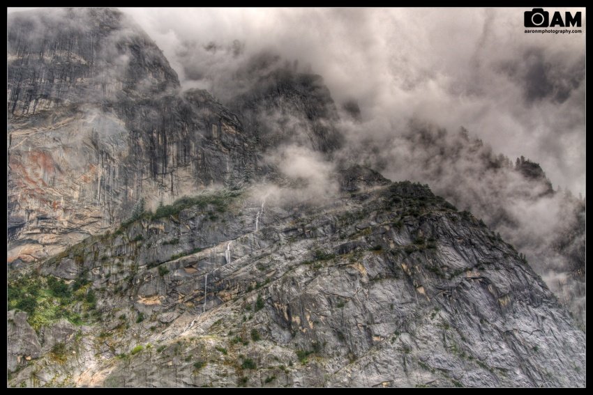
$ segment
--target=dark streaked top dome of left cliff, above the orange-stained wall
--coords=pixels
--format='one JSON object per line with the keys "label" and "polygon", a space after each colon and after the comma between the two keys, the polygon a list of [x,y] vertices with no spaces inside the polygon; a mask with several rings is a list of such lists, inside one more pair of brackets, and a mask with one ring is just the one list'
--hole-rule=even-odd
{"label": "dark streaked top dome of left cliff, above the orange-stained wall", "polygon": [[153,40],[112,8],[10,14],[7,46],[9,116],[179,88]]}

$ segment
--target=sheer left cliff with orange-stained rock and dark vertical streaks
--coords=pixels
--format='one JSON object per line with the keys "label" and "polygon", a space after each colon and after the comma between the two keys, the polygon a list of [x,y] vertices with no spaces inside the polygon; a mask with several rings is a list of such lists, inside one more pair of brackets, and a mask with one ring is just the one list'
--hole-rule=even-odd
{"label": "sheer left cliff with orange-stained rock and dark vertical streaks", "polygon": [[8,261],[56,254],[156,206],[256,172],[253,141],[117,10],[8,18]]}

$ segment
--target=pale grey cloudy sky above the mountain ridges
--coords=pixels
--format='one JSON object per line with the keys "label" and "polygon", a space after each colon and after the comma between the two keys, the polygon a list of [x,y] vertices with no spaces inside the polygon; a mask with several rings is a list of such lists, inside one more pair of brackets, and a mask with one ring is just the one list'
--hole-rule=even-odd
{"label": "pale grey cloudy sky above the mountain ridges", "polygon": [[241,61],[276,52],[322,75],[338,104],[355,99],[363,120],[382,120],[375,137],[411,117],[464,126],[585,195],[584,9],[572,34],[525,33],[526,8],[120,9],[184,88],[224,96]]}

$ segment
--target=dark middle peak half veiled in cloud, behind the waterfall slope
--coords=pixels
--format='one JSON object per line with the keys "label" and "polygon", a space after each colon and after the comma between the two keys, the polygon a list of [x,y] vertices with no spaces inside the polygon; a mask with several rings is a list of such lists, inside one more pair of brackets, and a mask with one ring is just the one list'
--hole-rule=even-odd
{"label": "dark middle peak half veiled in cloud, behind the waterfall slope", "polygon": [[280,66],[278,61],[277,56],[264,53],[241,69],[239,79],[255,83],[231,98],[229,107],[241,114],[246,130],[264,152],[281,144],[324,153],[336,150],[342,143],[335,127],[338,111],[323,78]]}

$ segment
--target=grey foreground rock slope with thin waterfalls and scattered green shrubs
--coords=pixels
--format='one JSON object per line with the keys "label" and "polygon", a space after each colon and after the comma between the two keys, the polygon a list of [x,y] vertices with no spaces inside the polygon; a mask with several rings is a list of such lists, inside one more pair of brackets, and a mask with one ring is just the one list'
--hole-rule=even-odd
{"label": "grey foreground rock slope with thin waterfalls and scattered green shrubs", "polygon": [[585,385],[585,334],[513,247],[428,187],[340,178],[261,213],[258,188],[202,194],[46,261],[28,281],[74,262],[54,298],[82,327],[8,384]]}

